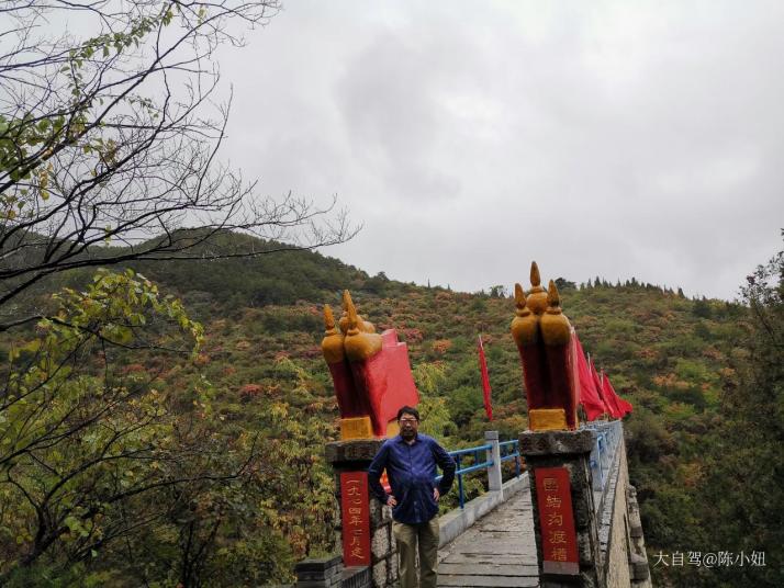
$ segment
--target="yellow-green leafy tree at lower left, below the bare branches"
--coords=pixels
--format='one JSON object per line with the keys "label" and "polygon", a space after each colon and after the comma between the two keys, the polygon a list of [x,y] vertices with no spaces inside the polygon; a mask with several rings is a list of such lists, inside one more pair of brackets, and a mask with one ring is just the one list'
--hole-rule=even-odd
{"label": "yellow-green leafy tree at lower left, below the bare branches", "polygon": [[[155,372],[123,373],[132,350],[159,361],[202,337],[179,302],[133,272],[99,272],[86,292],[66,290],[12,348],[0,393],[0,493],[5,505],[0,573],[57,551],[83,559],[138,524],[119,507],[198,474],[182,453]],[[150,331],[155,332],[150,338]],[[146,514],[149,512],[146,511]],[[142,516],[142,517],[144,517]]]}

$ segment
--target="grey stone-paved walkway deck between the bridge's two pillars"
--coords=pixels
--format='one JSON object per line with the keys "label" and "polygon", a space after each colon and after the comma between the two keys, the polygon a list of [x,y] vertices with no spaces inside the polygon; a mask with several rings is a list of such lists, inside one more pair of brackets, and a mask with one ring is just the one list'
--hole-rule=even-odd
{"label": "grey stone-paved walkway deck between the bridge's two pillars", "polygon": [[528,489],[444,545],[438,562],[438,586],[539,586]]}

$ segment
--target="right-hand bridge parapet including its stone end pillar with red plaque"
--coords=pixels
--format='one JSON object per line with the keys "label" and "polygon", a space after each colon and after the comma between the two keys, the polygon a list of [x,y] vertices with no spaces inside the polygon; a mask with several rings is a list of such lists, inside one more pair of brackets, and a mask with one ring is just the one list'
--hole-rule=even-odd
{"label": "right-hand bridge parapet including its stone end pillar with red plaque", "polygon": [[650,587],[621,422],[526,431],[520,453],[531,476],[540,585]]}

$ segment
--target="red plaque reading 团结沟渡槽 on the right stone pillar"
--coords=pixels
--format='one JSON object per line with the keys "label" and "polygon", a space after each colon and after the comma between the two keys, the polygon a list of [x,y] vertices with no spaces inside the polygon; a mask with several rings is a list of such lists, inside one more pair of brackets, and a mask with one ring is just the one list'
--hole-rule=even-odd
{"label": "red plaque reading \u56e2\u7ed3\u6c9f\u6e21\u69fd on the right stone pillar", "polygon": [[578,535],[565,467],[539,467],[535,471],[536,497],[541,529],[542,572],[580,574]]}

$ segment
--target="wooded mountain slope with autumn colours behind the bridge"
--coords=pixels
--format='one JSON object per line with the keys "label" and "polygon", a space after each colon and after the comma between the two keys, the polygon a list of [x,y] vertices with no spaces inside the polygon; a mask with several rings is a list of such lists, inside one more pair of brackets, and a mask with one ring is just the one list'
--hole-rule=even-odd
{"label": "wooded mountain slope with autumn colours behind the bridge", "polygon": [[[280,248],[258,240],[251,246]],[[161,389],[172,406],[190,410],[209,397],[202,418],[219,421],[229,436],[258,432],[276,463],[275,484],[239,499],[255,505],[247,509],[245,532],[267,533],[275,544],[247,555],[257,568],[270,569],[265,579],[284,579],[281,570],[292,561],[333,549],[332,535],[322,532],[332,523],[332,482],[322,454],[323,444],[335,439],[338,415],[320,343],[322,306],[339,307],[344,289],[351,291],[366,319],[379,330],[397,329],[408,343],[426,432],[457,449],[477,444],[490,428],[512,439],[526,427],[522,370],[509,333],[514,302],[499,289],[491,296],[416,286],[296,250],[131,267],[164,293],[182,297],[205,327],[195,360],[166,366],[161,374]],[[527,273],[511,271],[507,285],[526,285]],[[49,286],[88,279],[79,272]],[[748,308],[687,299],[636,281],[581,287],[560,283],[562,307],[583,347],[635,406],[625,423],[629,470],[651,552],[707,551],[710,536],[701,520],[709,500],[699,494],[708,477],[705,455],[724,419],[724,391],[739,385],[739,366],[749,357],[739,344],[748,332]],[[480,335],[493,387],[492,423],[482,406]],[[468,487],[475,491],[478,485],[469,480]],[[278,499],[281,491],[288,500]],[[265,505],[261,511],[258,505]],[[228,531],[221,541],[238,545],[232,539],[236,530]],[[653,573],[654,579],[667,579],[661,569]]]}

